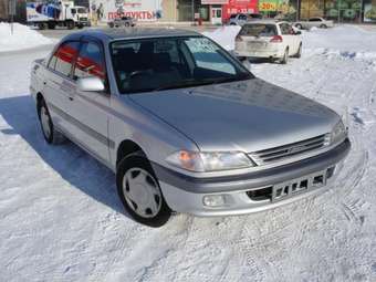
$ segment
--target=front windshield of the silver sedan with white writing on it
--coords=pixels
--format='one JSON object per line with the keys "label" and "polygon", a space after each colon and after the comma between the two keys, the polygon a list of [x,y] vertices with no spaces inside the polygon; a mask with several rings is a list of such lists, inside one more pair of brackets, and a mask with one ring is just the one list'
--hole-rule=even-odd
{"label": "front windshield of the silver sedan with white writing on it", "polygon": [[111,53],[123,94],[253,77],[236,59],[203,36],[115,41]]}

